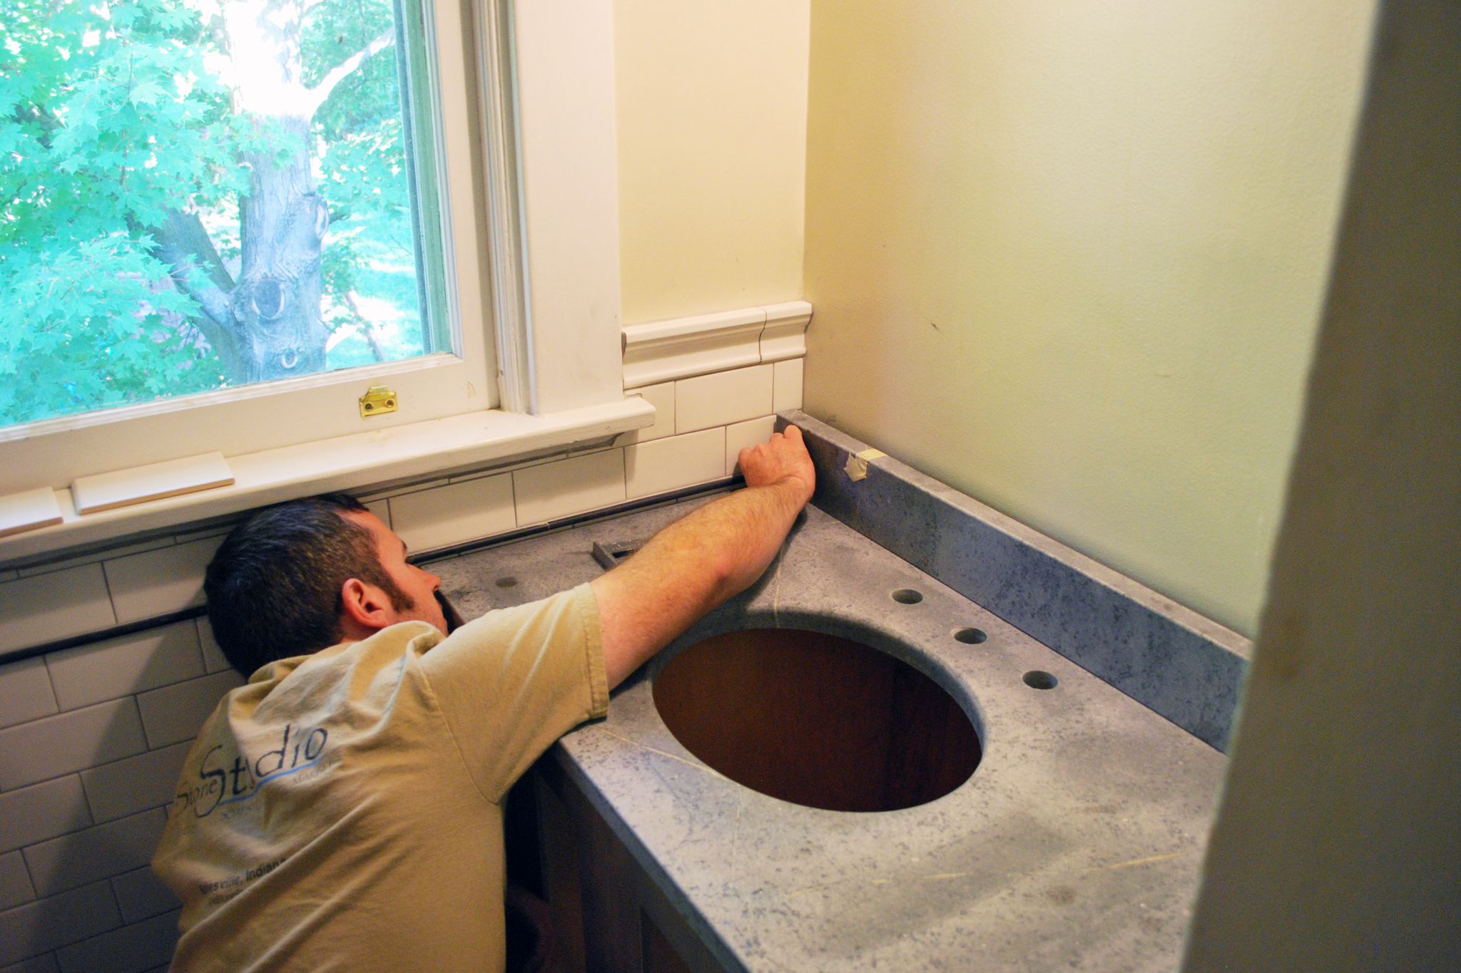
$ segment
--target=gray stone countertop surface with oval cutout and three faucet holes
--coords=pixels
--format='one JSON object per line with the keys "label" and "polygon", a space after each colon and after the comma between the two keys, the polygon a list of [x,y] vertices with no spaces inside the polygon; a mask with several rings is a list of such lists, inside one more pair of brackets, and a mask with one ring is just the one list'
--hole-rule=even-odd
{"label": "gray stone countertop surface with oval cutout and three faucet holes", "polygon": [[[600,572],[593,541],[647,540],[703,502],[432,570],[475,617],[589,581]],[[893,601],[899,588],[923,601]],[[988,640],[957,642],[964,626]],[[973,718],[979,767],[937,801],[872,814],[726,779],[665,726],[652,681],[676,651],[745,627],[843,635],[910,662]],[[1030,670],[1058,686],[1026,686]],[[564,737],[554,757],[712,953],[749,970],[1176,969],[1226,763],[815,508],[757,585],[625,681],[608,718]]]}

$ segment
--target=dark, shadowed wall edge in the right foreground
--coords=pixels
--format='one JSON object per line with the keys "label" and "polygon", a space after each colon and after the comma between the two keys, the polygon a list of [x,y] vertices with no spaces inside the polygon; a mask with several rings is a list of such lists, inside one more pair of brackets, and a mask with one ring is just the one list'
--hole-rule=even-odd
{"label": "dark, shadowed wall edge in the right foreground", "polygon": [[1461,969],[1457,51],[1385,4],[1192,973]]}

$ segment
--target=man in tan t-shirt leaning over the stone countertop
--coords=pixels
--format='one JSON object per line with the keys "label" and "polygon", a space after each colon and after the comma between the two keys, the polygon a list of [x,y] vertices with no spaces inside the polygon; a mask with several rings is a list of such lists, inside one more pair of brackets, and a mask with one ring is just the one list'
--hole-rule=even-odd
{"label": "man in tan t-shirt leaning over the stone countertop", "polygon": [[183,900],[174,969],[501,969],[507,789],[755,581],[811,499],[795,426],[741,470],[614,570],[450,635],[440,579],[351,497],[240,525],[206,591],[253,675],[200,731],[152,862]]}

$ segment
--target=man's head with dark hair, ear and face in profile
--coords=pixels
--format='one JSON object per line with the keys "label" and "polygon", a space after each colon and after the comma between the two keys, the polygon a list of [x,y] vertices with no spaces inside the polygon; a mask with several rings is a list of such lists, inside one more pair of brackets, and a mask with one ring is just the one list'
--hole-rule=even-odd
{"label": "man's head with dark hair, ear and face in profile", "polygon": [[292,500],[240,524],[203,591],[219,648],[245,677],[275,659],[419,619],[447,630],[441,579],[406,563],[406,546],[343,493]]}

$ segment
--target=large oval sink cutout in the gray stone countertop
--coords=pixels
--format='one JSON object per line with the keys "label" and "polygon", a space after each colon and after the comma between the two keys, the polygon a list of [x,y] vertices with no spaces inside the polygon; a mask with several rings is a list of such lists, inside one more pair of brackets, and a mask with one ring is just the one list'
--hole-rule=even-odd
{"label": "large oval sink cutout in the gray stone countertop", "polygon": [[655,708],[695,754],[773,798],[830,811],[928,804],[979,766],[958,702],[907,662],[820,632],[698,642],[655,677]]}

